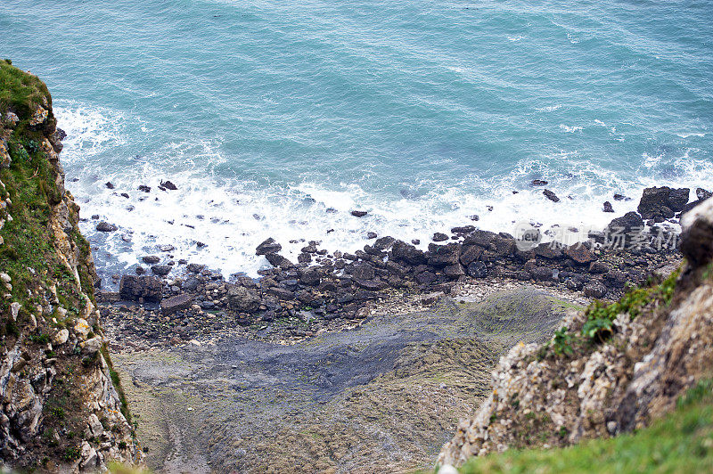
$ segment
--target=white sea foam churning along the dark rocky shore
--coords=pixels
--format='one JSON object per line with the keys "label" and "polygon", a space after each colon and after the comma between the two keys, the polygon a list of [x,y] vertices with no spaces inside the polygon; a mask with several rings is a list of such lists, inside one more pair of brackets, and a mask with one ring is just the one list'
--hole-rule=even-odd
{"label": "white sea foam churning along the dark rocky shore", "polygon": [[[614,215],[602,212],[602,202],[611,200],[614,192],[634,198],[613,202],[620,216],[635,209],[643,187],[694,187],[713,181],[713,164],[688,153],[676,162],[676,173],[668,180],[652,176],[651,169],[662,157],[648,155],[643,157],[640,177],[627,180],[579,157],[577,151],[558,151],[543,159],[523,160],[511,173],[496,179],[464,176],[460,183],[424,183],[422,187],[430,191],[420,196],[367,192],[354,183],[299,179],[290,185],[266,185],[213,176],[210,169],[226,160],[214,140],[178,140],[145,159],[107,167],[102,159],[86,157],[123,144],[125,118],[82,105],[58,106],[57,117],[69,134],[62,159],[79,178],[68,186],[82,206],[82,217],[98,215],[119,225],[118,232],[103,234],[94,231],[96,220],[83,223],[83,231],[101,243],[101,248],[94,249],[100,269],[111,267],[111,271],[133,266],[140,256],[157,253],[158,246],[165,244],[176,247],[171,252],[176,259],[206,264],[225,275],[254,276],[268,266],[264,257],[254,255],[258,243],[267,237],[283,245],[285,257],[296,260],[306,241],[322,241],[331,251],[354,251],[368,243],[368,232],[405,241],[420,239],[422,248],[434,232],[448,232],[455,225],[512,233],[514,225],[524,220],[545,229],[576,227],[581,234],[583,228],[608,224]],[[566,172],[561,163],[570,165]],[[535,177],[550,181],[547,187],[561,202],[547,200],[541,188],[530,187]],[[161,191],[159,185],[165,179],[178,190]],[[115,189],[107,189],[106,181]],[[152,192],[138,191],[139,184],[151,186]],[[129,198],[122,197],[122,192]],[[353,209],[369,214],[353,217],[349,212]],[[471,221],[473,215],[479,216],[477,222]]]}

